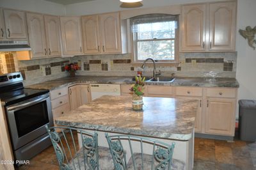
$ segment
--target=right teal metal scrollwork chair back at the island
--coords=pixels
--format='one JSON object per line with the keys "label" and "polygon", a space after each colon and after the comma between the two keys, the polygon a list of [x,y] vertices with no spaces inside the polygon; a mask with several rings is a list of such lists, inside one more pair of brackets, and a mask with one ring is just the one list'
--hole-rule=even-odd
{"label": "right teal metal scrollwork chair back at the island", "polygon": [[[154,139],[133,135],[106,134],[106,138],[115,170],[172,168],[175,143],[166,144]],[[129,160],[127,160],[128,158]]]}

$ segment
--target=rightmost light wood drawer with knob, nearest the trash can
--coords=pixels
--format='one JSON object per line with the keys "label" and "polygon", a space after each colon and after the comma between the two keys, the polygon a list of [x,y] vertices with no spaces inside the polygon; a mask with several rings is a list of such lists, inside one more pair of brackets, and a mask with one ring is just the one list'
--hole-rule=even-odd
{"label": "rightmost light wood drawer with knob, nearest the trash can", "polygon": [[236,89],[208,88],[206,89],[207,97],[236,97]]}

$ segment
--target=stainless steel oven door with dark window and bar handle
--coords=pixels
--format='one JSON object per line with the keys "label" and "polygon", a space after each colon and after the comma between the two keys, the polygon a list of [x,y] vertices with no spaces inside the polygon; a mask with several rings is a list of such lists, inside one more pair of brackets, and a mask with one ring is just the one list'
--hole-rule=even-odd
{"label": "stainless steel oven door with dark window and bar handle", "polygon": [[14,150],[44,135],[45,125],[53,125],[49,93],[9,105],[6,112]]}

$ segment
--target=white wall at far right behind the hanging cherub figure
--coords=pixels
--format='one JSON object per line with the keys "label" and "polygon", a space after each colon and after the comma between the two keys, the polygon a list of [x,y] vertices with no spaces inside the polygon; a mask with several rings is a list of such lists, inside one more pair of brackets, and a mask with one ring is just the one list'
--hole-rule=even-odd
{"label": "white wall at far right behind the hanging cherub figure", "polygon": [[256,100],[256,50],[249,47],[247,40],[238,33],[239,29],[245,29],[246,26],[256,26],[256,1],[238,0],[237,11],[236,78],[240,84],[238,98]]}

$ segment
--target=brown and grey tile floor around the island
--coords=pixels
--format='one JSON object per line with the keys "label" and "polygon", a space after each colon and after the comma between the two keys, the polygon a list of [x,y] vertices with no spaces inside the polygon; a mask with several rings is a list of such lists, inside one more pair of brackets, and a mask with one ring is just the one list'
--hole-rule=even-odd
{"label": "brown and grey tile floor around the island", "polygon": [[[52,147],[47,148],[18,170],[54,170],[59,169],[56,155]],[[195,138],[196,170],[256,170],[256,143],[244,141],[219,141],[214,139]]]}

